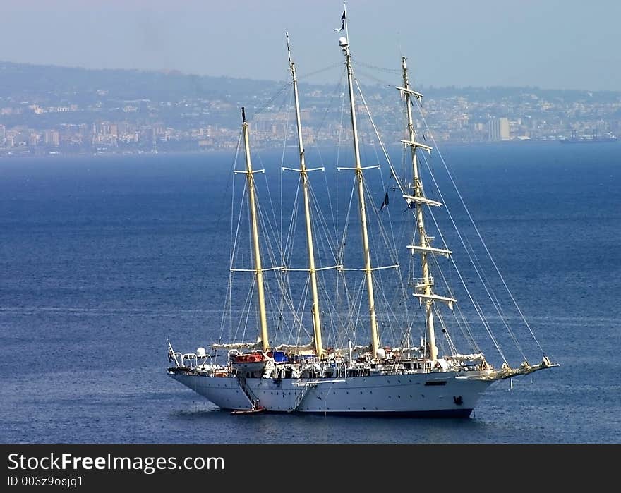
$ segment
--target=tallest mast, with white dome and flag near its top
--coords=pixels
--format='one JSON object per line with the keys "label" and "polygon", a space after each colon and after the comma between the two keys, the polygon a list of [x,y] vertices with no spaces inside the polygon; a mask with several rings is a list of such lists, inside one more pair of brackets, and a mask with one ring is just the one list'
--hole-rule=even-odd
{"label": "tallest mast, with white dome and flag near its top", "polygon": [[[349,35],[347,30],[346,11],[343,12],[343,20],[345,27],[345,35]],[[371,268],[371,257],[369,250],[366,204],[364,199],[364,182],[363,168],[360,164],[360,148],[358,145],[358,128],[356,126],[356,103],[354,101],[354,83],[353,70],[351,68],[351,55],[349,53],[349,40],[347,37],[339,38],[339,45],[345,54],[345,66],[347,68],[347,83],[349,85],[349,108],[351,110],[351,129],[354,135],[354,159],[356,161],[356,182],[358,184],[358,208],[360,209],[360,224],[362,229],[362,252],[364,256],[364,275],[366,278],[366,291],[368,296],[370,329],[371,329],[371,348],[373,358],[378,357],[378,348],[380,347],[380,338],[378,335],[378,320],[375,316],[375,298],[373,295],[373,269]]]}

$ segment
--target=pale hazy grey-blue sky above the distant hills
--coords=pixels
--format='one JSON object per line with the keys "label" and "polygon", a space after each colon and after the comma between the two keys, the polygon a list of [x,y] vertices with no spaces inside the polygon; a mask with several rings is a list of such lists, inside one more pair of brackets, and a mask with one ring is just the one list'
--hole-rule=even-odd
{"label": "pale hazy grey-blue sky above the distant hills", "polygon": [[[284,80],[342,61],[339,0],[0,0],[0,60]],[[355,59],[424,85],[621,90],[619,0],[350,0]],[[392,79],[392,75],[387,75]],[[321,73],[309,82],[328,82]]]}

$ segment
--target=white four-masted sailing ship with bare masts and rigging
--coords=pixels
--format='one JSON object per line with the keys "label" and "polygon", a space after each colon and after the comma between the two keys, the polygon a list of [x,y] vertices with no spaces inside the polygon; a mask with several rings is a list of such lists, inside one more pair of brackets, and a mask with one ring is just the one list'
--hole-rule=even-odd
{"label": "white four-masted sailing ship with bare masts and rigging", "polygon": [[[384,151],[384,155],[390,169],[390,178],[394,181],[393,195],[396,193],[397,200],[402,204],[399,220],[409,229],[410,241],[406,242],[409,244],[399,247],[401,252],[406,252],[406,255],[402,253],[394,255],[392,262],[387,262],[387,265],[375,263],[375,260],[379,259],[379,247],[375,240],[380,236],[371,233],[370,223],[380,214],[374,206],[368,205],[370,195],[366,172],[380,166],[361,164],[361,143],[356,121],[358,99],[355,88],[358,84],[354,78],[345,13],[342,21],[345,37],[339,38],[339,47],[344,55],[349,92],[351,118],[349,135],[354,150],[354,166],[339,168],[339,171],[349,173],[354,178],[350,204],[357,205],[354,206],[357,210],[352,214],[354,219],[348,215],[344,222],[347,226],[351,226],[354,222],[357,223],[356,227],[359,226],[359,233],[356,233],[359,238],[356,238],[356,242],[361,242],[361,248],[355,248],[356,256],[351,256],[354,246],[349,243],[354,241],[348,243],[343,236],[340,241],[333,242],[336,243],[333,248],[332,246],[321,248],[322,252],[336,252],[331,265],[318,264],[323,262],[319,260],[318,243],[325,245],[327,240],[322,236],[318,242],[316,236],[318,231],[325,235],[329,228],[325,227],[322,219],[319,219],[320,208],[315,207],[317,196],[313,194],[309,175],[311,171],[323,171],[323,168],[310,169],[306,166],[298,78],[296,65],[291,61],[287,35],[299,166],[295,169],[283,169],[299,174],[301,190],[299,215],[303,217],[305,231],[306,248],[303,250],[306,265],[303,265],[303,268],[295,268],[296,266],[292,267],[289,263],[299,257],[300,250],[296,250],[297,256],[291,254],[290,250],[293,249],[291,233],[287,233],[282,244],[277,247],[265,247],[265,238],[269,236],[270,226],[267,226],[265,214],[260,212],[255,180],[257,174],[264,170],[253,168],[250,130],[245,111],[242,109],[241,142],[244,147],[245,166],[243,170],[235,172],[246,178],[243,203],[247,209],[246,214],[241,215],[248,218],[251,255],[246,255],[246,259],[250,258],[252,265],[248,268],[237,268],[235,265],[243,244],[237,236],[243,221],[233,222],[231,275],[227,302],[222,311],[222,338],[228,328],[231,339],[232,336],[237,336],[237,339],[246,340],[222,343],[221,338],[218,343],[212,344],[213,351],[210,353],[203,347],[194,353],[176,352],[169,342],[171,366],[167,372],[173,379],[204,396],[219,408],[236,413],[268,411],[468,417],[481,394],[493,382],[557,365],[551,363],[543,353],[543,349],[524,320],[533,340],[541,349],[541,360],[531,364],[524,358],[521,364],[512,367],[500,349],[498,339],[491,331],[493,324],[483,316],[481,304],[473,299],[465,282],[463,284],[466,287],[466,298],[474,307],[471,312],[478,319],[476,321],[483,325],[493,345],[498,349],[501,363],[499,367],[494,367],[481,351],[466,351],[466,353],[457,351],[451,335],[451,324],[442,317],[442,310],[449,310],[450,314],[454,315],[454,323],[461,327],[459,330],[464,331],[465,339],[471,341],[472,347],[476,350],[478,345],[472,340],[470,330],[470,324],[475,321],[467,320],[462,310],[456,310],[457,299],[454,298],[453,291],[442,291],[439,288],[445,284],[447,290],[451,289],[441,272],[440,259],[447,257],[452,260],[452,252],[443,244],[445,242],[441,233],[442,245],[438,247],[433,246],[433,237],[428,234],[428,218],[433,220],[434,226],[438,225],[432,210],[442,207],[442,203],[426,196],[423,189],[421,159],[426,157],[421,158],[421,154],[430,153],[432,147],[417,139],[412,109],[421,102],[422,95],[410,87],[405,58],[402,59],[402,81],[396,88],[405,102],[406,121],[403,126],[405,138],[401,142],[406,150],[406,168],[409,169],[410,176],[400,178],[387,152]],[[364,100],[361,100],[366,107]],[[375,128],[375,123],[372,125]],[[382,208],[387,206],[388,202],[387,191]],[[292,213],[293,215],[295,214]],[[387,218],[388,214],[384,214],[380,220]],[[404,221],[404,218],[407,221]],[[478,233],[478,230],[476,231]],[[390,236],[386,234],[382,238],[387,241]],[[327,244],[330,245],[330,242]],[[395,246],[392,250],[391,248],[385,250],[396,252],[399,248]],[[347,255],[345,252],[348,252]],[[266,258],[273,262],[273,265],[265,267]],[[406,267],[404,262],[409,262],[411,267]],[[474,275],[485,284],[486,278],[478,271],[479,264],[479,262],[472,263],[476,272]],[[496,264],[493,265],[495,267]],[[454,267],[457,269],[457,265]],[[417,269],[417,275],[414,274],[414,269]],[[439,272],[436,272],[436,269]],[[401,281],[385,285],[384,279],[388,272]],[[459,274],[460,271],[457,272],[458,279],[464,281],[462,274]],[[498,274],[500,276],[500,272]],[[237,276],[236,279],[241,276],[250,286],[247,295],[242,296],[232,287],[234,276]],[[268,282],[268,276],[275,279],[270,281],[272,284]],[[303,301],[298,303],[294,301],[292,286],[296,286],[296,283],[290,281],[291,276],[297,276],[297,279],[303,278],[301,298],[310,300],[308,303],[310,308],[307,308]],[[351,281],[352,278],[354,282]],[[437,282],[440,279],[442,283]],[[276,288],[268,288],[268,285],[275,285]],[[502,285],[507,288],[504,279]],[[390,289],[392,293],[387,291]],[[498,298],[489,292],[488,287],[485,291],[498,310]],[[278,296],[275,295],[276,292],[279,293]],[[243,309],[234,308],[236,297],[243,298],[245,302]],[[345,302],[339,303],[337,298],[344,299]],[[511,294],[510,299],[515,301]],[[250,300],[252,303],[246,303]],[[272,302],[273,306],[270,304]],[[523,318],[517,303],[515,308]],[[502,315],[503,312],[498,310],[498,313]],[[240,322],[234,324],[232,320],[236,315],[239,315]],[[289,341],[276,343],[272,331],[277,330],[279,335],[287,334],[287,330],[283,329],[287,324],[289,324]],[[502,324],[512,334],[505,319]],[[240,327],[243,329],[239,330]],[[248,331],[251,335],[248,335]],[[233,332],[235,334],[232,334]],[[306,334],[308,336],[305,340]],[[389,334],[392,343],[388,342]],[[420,343],[412,342],[415,334],[417,338],[420,336]],[[328,337],[332,341],[325,344],[324,341],[327,341]],[[368,341],[370,343],[367,343]]]}

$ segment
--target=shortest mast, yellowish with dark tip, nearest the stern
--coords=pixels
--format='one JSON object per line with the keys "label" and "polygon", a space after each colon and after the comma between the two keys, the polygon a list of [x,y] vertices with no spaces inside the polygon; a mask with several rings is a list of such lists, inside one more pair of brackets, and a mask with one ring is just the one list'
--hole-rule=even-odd
{"label": "shortest mast, yellowish with dark tip, nearest the stern", "polygon": [[248,205],[250,207],[250,220],[252,228],[253,257],[255,262],[255,276],[257,281],[257,297],[259,303],[259,322],[261,330],[261,343],[263,351],[270,347],[267,341],[267,314],[265,310],[265,286],[263,286],[263,267],[261,267],[261,251],[259,247],[259,223],[257,219],[257,205],[255,192],[255,179],[253,176],[252,162],[250,159],[250,142],[248,140],[248,122],[246,111],[241,108],[243,144],[246,150],[246,180],[248,181]]}

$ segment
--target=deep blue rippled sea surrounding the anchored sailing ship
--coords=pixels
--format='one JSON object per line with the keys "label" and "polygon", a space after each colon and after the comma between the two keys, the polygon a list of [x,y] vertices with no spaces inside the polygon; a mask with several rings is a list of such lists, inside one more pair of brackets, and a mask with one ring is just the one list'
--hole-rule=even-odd
{"label": "deep blue rippled sea surrounding the anchored sailing ship", "polygon": [[0,442],[620,443],[621,144],[442,155],[560,367],[469,419],[230,415],[166,367],[219,334],[232,153],[2,159]]}

